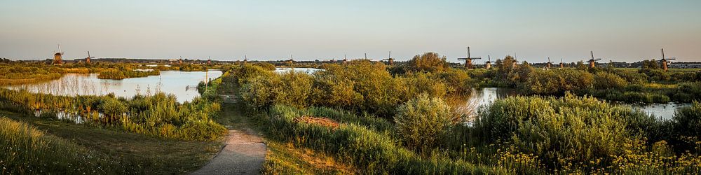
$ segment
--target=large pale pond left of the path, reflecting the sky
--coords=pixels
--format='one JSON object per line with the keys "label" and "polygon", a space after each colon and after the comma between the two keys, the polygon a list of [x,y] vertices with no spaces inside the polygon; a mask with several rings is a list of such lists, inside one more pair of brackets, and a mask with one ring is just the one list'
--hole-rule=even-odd
{"label": "large pale pond left of the path, reflecting the sky", "polygon": [[160,76],[108,80],[97,78],[97,73],[67,73],[59,79],[22,85],[3,85],[0,87],[30,92],[68,95],[109,94],[118,97],[133,97],[135,94],[154,94],[164,92],[175,94],[178,102],[185,102],[199,97],[197,85],[200,81],[222,76],[222,71],[161,71]]}

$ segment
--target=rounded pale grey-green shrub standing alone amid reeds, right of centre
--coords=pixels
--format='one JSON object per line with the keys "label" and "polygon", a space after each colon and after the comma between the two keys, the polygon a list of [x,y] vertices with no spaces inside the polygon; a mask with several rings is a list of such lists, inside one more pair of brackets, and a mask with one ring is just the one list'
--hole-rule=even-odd
{"label": "rounded pale grey-green shrub standing alone amid reeds, right of centre", "polygon": [[427,151],[437,146],[457,121],[451,107],[440,98],[419,95],[397,108],[397,135],[407,147]]}

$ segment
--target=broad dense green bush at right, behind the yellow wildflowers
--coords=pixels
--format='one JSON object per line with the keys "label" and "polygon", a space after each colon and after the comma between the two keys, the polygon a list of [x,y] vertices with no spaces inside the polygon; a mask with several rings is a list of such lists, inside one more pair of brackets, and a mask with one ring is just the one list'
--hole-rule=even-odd
{"label": "broad dense green bush at right, behind the yellow wildflowers", "polygon": [[550,168],[602,167],[597,161],[612,160],[627,141],[645,134],[627,129],[647,120],[653,118],[593,97],[508,97],[481,113],[475,130],[488,141],[509,141],[537,155]]}

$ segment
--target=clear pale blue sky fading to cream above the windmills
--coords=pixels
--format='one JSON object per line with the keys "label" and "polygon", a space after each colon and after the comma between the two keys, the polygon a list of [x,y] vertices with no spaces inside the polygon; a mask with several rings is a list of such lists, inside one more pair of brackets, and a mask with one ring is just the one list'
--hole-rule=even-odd
{"label": "clear pale blue sky fading to cream above the windmills", "polygon": [[[701,61],[701,1],[0,0],[0,57]],[[484,62],[486,60],[477,61]]]}

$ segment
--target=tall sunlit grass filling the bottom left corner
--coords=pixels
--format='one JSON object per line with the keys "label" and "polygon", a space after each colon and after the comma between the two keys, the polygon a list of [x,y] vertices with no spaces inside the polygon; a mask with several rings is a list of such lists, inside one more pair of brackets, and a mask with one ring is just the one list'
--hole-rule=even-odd
{"label": "tall sunlit grass filling the bottom left corner", "polygon": [[0,117],[0,139],[2,174],[104,174],[118,167],[101,153],[5,117]]}

